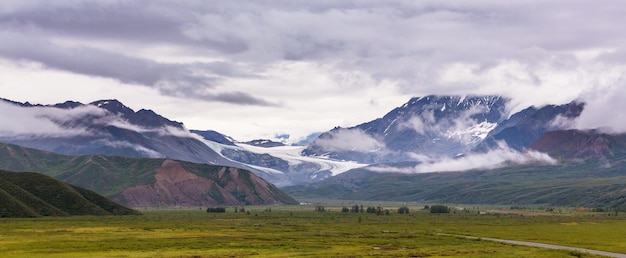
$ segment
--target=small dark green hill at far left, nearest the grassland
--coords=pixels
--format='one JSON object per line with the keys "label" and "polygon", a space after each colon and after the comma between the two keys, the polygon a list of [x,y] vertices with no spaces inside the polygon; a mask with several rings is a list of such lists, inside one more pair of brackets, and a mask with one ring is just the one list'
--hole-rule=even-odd
{"label": "small dark green hill at far left, nearest the grassland", "polygon": [[139,213],[49,176],[0,170],[0,217],[130,214]]}

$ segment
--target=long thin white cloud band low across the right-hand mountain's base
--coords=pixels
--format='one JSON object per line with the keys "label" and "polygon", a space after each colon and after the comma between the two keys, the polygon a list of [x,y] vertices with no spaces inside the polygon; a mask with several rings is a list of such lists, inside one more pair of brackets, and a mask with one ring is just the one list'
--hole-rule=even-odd
{"label": "long thin white cloud band low across the right-hand mountain's base", "polygon": [[415,167],[375,166],[368,169],[376,172],[431,173],[496,169],[511,164],[557,164],[557,161],[548,154],[537,151],[518,152],[503,143],[499,144],[499,148],[487,153],[472,153],[458,158],[431,158],[422,155],[415,156],[415,158],[420,161],[420,164]]}

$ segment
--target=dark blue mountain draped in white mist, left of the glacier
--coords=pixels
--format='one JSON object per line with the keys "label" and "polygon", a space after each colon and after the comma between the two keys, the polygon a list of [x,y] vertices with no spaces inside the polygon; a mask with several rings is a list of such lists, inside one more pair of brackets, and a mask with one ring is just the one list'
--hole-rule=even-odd
{"label": "dark blue mountain draped in white mist, left of the glacier", "polygon": [[0,141],[67,155],[171,158],[243,166],[216,153],[182,123],[117,100],[32,105],[0,101],[8,121]]}

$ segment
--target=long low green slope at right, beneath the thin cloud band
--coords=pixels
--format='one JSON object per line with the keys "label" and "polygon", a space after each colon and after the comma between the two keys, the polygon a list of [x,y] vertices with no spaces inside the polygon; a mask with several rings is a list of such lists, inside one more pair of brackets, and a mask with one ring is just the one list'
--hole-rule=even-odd
{"label": "long low green slope at right, beneath the thin cloud band", "polygon": [[352,200],[622,206],[626,204],[625,161],[618,156],[559,166],[413,175],[361,169],[315,185],[283,190],[302,199],[341,196]]}

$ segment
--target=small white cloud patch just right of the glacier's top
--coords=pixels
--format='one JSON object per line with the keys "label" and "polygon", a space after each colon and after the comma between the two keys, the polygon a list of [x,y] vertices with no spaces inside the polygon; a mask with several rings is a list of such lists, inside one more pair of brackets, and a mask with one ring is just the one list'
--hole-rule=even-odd
{"label": "small white cloud patch just right of the glacier's top", "polygon": [[325,151],[371,152],[385,148],[385,144],[360,129],[337,129],[329,137],[318,138],[315,144]]}

